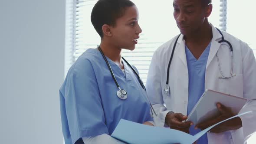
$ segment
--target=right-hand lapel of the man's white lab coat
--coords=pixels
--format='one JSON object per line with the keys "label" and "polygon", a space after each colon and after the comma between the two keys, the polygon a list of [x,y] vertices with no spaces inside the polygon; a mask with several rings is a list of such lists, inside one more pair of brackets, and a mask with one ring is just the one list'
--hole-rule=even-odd
{"label": "right-hand lapel of the man's white lab coat", "polygon": [[219,33],[219,31],[213,26],[212,26],[212,31],[213,31],[213,39],[211,42],[211,46],[210,46],[210,52],[209,52],[209,56],[208,56],[208,60],[207,60],[207,64],[206,64],[206,69],[208,67],[208,65],[210,64],[210,62],[213,60],[214,56],[216,56],[216,53],[218,51],[218,49],[220,48],[220,43],[218,43],[218,41],[221,39],[221,35]]}

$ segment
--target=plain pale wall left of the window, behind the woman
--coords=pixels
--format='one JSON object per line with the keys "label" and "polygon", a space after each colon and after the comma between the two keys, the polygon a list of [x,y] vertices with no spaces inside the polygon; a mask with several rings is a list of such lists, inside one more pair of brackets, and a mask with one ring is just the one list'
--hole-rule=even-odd
{"label": "plain pale wall left of the window, behind the woman", "polygon": [[0,0],[0,144],[62,144],[65,0]]}

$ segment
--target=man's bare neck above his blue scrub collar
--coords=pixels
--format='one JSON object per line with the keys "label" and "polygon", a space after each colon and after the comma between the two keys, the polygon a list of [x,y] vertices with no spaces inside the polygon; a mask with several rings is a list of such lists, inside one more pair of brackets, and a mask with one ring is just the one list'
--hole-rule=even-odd
{"label": "man's bare neck above his blue scrub collar", "polygon": [[203,26],[196,32],[184,36],[186,43],[210,42],[212,38],[212,27],[207,19],[204,21]]}

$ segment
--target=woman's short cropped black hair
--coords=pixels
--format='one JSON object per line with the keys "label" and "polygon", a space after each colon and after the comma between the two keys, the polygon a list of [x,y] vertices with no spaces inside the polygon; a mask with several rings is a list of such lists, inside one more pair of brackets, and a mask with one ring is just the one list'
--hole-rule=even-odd
{"label": "woman's short cropped black hair", "polygon": [[116,20],[125,14],[125,9],[134,5],[130,0],[98,0],[92,9],[91,22],[99,36],[103,38],[104,24],[115,26]]}

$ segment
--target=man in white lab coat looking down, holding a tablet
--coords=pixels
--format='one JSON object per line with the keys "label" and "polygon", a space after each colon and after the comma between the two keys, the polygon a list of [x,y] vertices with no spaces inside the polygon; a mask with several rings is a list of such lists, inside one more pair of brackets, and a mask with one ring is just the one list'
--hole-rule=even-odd
{"label": "man in white lab coat looking down, holding a tablet", "polygon": [[[217,125],[197,144],[243,144],[256,131],[253,122],[256,119],[256,60],[253,50],[208,22],[213,7],[211,0],[174,0],[173,6],[181,35],[154,52],[146,82],[149,99],[158,114],[156,125],[195,134],[233,116],[225,105],[218,103],[218,117],[196,126],[182,122],[204,90],[211,89],[247,98],[249,102],[240,113],[253,112]],[[219,43],[222,39],[230,42],[233,49],[226,42]]]}

